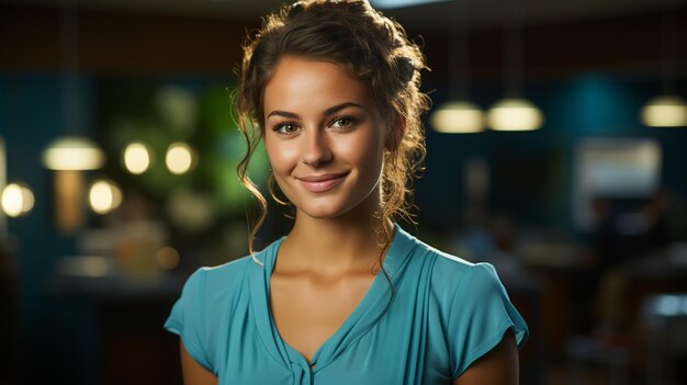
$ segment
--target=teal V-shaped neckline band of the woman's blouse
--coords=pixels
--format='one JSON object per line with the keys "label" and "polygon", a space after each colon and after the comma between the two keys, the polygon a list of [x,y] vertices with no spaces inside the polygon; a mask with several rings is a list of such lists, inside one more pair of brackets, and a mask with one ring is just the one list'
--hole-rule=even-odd
{"label": "teal V-shaped neckline band of the woman's blouse", "polygon": [[[412,247],[409,244],[413,240],[398,225],[394,225],[394,238],[386,251],[383,265],[395,287],[398,278],[402,275],[404,262]],[[254,312],[258,322],[258,332],[273,359],[281,361],[289,367],[296,365],[301,371],[316,373],[326,367],[346,350],[346,347],[357,341],[379,321],[390,303],[390,285],[384,274],[379,273],[351,314],[317,348],[308,362],[303,354],[284,341],[277,329],[271,314],[269,301],[270,278],[274,269],[279,247],[284,239],[285,237],[278,239],[259,253],[259,260],[263,263],[263,269],[252,269],[250,274],[251,299],[255,304]],[[311,370],[312,366],[315,366],[315,369]]]}

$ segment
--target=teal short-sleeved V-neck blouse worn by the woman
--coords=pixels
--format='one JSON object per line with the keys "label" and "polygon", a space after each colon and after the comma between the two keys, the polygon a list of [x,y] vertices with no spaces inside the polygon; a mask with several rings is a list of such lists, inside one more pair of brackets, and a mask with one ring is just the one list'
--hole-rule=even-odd
{"label": "teal short-sleeved V-neck blouse worn by the woman", "polygon": [[263,265],[245,257],[195,271],[165,324],[221,385],[450,384],[506,330],[518,348],[527,339],[491,264],[443,253],[396,226],[384,259],[392,301],[379,274],[308,363],[270,315],[270,274],[283,239],[257,254]]}

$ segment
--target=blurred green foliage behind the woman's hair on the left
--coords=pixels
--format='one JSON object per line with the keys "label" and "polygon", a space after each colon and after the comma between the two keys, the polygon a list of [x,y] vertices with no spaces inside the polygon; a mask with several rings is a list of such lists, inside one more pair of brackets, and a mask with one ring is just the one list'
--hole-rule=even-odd
{"label": "blurred green foliage behind the woman's hair on the left", "polygon": [[[99,118],[111,159],[110,177],[125,192],[142,193],[165,210],[176,191],[190,191],[212,202],[215,223],[245,215],[252,195],[236,173],[246,144],[233,118],[230,88],[216,83],[108,81],[101,84],[100,97]],[[150,167],[138,175],[126,172],[122,161],[122,152],[132,141],[145,143],[151,150]],[[187,141],[196,150],[195,167],[185,174],[171,173],[165,163],[167,148],[174,141]],[[264,185],[268,169],[260,147],[251,159],[249,174]]]}

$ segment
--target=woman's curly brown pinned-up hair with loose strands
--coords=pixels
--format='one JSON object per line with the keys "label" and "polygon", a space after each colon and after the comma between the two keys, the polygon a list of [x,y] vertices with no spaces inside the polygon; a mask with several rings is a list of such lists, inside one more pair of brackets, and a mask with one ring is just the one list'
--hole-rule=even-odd
{"label": "woman's curly brown pinned-up hair with loose strands", "polygon": [[[256,195],[261,207],[250,229],[250,254],[254,256],[254,239],[267,215],[268,203],[248,177],[247,168],[264,134],[264,88],[284,56],[348,67],[358,80],[368,84],[392,127],[403,127],[399,136],[388,131],[387,140],[392,145],[384,150],[382,202],[375,215],[383,224],[399,217],[413,220],[408,211],[409,195],[414,179],[423,170],[426,152],[420,115],[428,109],[429,99],[419,90],[419,71],[426,68],[425,57],[398,23],[372,9],[368,1],[301,1],[264,18],[261,29],[248,36],[244,46],[236,107],[248,149],[237,171],[241,183]],[[272,193],[273,180],[270,180]],[[386,249],[392,234],[387,226],[382,228]]]}

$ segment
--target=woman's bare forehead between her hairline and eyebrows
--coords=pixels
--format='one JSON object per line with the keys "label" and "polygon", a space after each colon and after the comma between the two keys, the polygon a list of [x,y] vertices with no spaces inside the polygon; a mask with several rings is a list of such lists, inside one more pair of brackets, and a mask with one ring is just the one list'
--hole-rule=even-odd
{"label": "woman's bare forehead between her hairline and eyebrows", "polygon": [[372,107],[369,88],[347,66],[286,56],[264,88],[263,116],[272,110],[317,113],[345,102]]}

